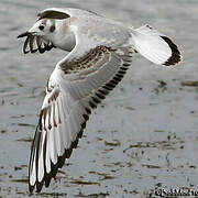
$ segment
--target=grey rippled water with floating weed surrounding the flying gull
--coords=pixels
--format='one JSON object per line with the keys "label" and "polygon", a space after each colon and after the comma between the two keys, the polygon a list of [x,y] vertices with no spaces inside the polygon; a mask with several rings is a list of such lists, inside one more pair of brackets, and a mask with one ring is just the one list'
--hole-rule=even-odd
{"label": "grey rippled water with floating weed surrounding the flying gull", "polygon": [[50,7],[92,10],[170,36],[184,61],[172,68],[134,57],[122,82],[94,111],[78,148],[33,197],[151,197],[198,186],[197,0],[0,1],[0,197],[28,197],[31,140],[56,63],[66,53],[22,54],[16,36]]}

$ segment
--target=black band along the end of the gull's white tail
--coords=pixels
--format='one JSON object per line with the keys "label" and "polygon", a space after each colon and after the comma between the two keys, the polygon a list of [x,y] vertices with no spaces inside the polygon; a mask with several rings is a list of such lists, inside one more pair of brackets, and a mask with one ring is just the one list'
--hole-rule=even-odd
{"label": "black band along the end of the gull's white tail", "polygon": [[172,56],[163,64],[165,66],[176,65],[182,62],[182,53],[177,45],[167,36],[161,36],[172,50]]}

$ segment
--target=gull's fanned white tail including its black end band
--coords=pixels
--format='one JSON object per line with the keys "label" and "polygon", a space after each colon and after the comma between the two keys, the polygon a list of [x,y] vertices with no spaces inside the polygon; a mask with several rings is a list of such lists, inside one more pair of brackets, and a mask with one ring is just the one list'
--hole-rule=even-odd
{"label": "gull's fanned white tail including its black end band", "polygon": [[182,59],[173,41],[150,25],[132,30],[132,42],[142,56],[157,65],[175,65]]}

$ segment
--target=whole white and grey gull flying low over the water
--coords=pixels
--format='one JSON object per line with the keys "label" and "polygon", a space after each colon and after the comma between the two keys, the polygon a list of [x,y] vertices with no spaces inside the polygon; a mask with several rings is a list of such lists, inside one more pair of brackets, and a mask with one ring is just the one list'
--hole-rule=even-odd
{"label": "whole white and grey gull flying low over the water", "polygon": [[156,65],[182,61],[177,45],[145,24],[134,29],[89,10],[48,8],[37,14],[23,53],[66,51],[47,81],[31,146],[29,190],[50,186],[69,158],[91,111],[122,80],[139,53]]}

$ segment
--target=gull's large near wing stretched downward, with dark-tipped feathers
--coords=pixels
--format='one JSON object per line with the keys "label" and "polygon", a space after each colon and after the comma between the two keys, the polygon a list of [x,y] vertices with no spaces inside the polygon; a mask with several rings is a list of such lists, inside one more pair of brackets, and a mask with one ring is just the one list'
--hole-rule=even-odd
{"label": "gull's large near wing stretched downward, with dark-tipped feathers", "polygon": [[79,26],[74,29],[76,46],[56,65],[47,84],[30,158],[31,193],[35,186],[41,191],[43,184],[50,185],[76,148],[91,110],[118,85],[131,64],[129,35],[120,40],[112,36],[106,45],[96,34],[82,32]]}

